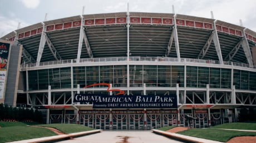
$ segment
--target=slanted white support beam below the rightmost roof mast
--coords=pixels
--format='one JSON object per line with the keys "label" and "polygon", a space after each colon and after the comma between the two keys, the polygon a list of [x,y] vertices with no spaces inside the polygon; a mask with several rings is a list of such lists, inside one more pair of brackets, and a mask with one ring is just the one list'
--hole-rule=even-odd
{"label": "slanted white support beam below the rightmost roof mast", "polygon": [[242,47],[244,49],[244,54],[245,54],[245,57],[247,58],[247,62],[249,64],[250,68],[253,68],[253,57],[252,57],[252,53],[250,52],[248,40],[245,37],[245,32],[244,32],[245,29],[242,32],[242,34],[243,34]]}

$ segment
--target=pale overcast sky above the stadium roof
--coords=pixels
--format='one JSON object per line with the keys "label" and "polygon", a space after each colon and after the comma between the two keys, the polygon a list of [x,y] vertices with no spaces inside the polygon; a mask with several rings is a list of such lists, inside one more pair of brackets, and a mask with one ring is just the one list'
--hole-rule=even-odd
{"label": "pale overcast sky above the stadium roof", "polygon": [[126,12],[173,13],[211,18],[256,32],[255,0],[0,0],[0,37],[20,27],[82,14]]}

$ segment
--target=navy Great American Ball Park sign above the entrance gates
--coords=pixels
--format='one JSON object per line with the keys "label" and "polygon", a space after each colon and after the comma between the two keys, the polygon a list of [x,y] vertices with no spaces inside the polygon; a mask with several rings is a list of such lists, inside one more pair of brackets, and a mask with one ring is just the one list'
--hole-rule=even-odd
{"label": "navy Great American Ball Park sign above the entrance gates", "polygon": [[93,108],[177,108],[174,95],[75,94],[73,102]]}

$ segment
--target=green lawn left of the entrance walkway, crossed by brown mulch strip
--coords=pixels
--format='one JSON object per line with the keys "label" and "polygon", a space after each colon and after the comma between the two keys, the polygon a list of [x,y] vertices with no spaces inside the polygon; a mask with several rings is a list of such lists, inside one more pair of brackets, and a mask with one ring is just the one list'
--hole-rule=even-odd
{"label": "green lawn left of the entrance walkway, crossed by brown mulch strip", "polygon": [[34,139],[38,137],[54,136],[57,135],[55,132],[43,128],[43,127],[33,127],[27,125],[35,126],[48,126],[54,127],[67,134],[72,132],[81,132],[94,130],[90,127],[77,124],[44,124],[38,125],[36,122],[2,122],[0,121],[0,143],[11,142],[18,140]]}

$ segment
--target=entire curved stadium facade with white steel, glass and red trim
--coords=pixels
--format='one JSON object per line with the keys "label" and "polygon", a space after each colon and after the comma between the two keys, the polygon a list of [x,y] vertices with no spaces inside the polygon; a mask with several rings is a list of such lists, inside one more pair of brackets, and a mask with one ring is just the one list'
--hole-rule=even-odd
{"label": "entire curved stadium facade with white steel, glass and red trim", "polygon": [[239,25],[120,12],[40,22],[1,39],[10,52],[0,101],[41,109],[48,124],[209,127],[256,106],[256,33]]}

